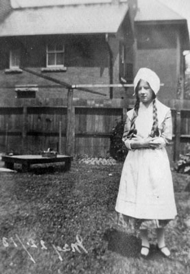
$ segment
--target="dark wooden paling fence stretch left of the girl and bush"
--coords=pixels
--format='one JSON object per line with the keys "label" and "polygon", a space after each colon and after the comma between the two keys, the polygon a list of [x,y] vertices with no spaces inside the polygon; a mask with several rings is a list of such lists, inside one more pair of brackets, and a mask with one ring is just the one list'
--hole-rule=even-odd
{"label": "dark wooden paling fence stretch left of the girl and bush", "polygon": [[112,107],[111,100],[77,100],[71,110],[61,99],[48,106],[34,99],[31,105],[27,102],[23,107],[0,108],[2,152],[33,154],[51,147],[60,153],[104,156],[112,127],[123,117],[123,109],[117,101]]}

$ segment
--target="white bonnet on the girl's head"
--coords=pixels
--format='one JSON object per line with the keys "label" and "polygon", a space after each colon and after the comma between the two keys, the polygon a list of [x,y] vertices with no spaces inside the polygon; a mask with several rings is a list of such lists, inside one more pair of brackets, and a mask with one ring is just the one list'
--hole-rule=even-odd
{"label": "white bonnet on the girl's head", "polygon": [[150,84],[150,88],[152,88],[155,95],[158,93],[158,90],[160,89],[160,86],[161,86],[161,80],[158,77],[158,75],[154,73],[154,71],[147,68],[139,69],[138,73],[136,73],[136,76],[134,77],[134,91],[141,79],[144,80],[145,82],[148,82],[148,84]]}

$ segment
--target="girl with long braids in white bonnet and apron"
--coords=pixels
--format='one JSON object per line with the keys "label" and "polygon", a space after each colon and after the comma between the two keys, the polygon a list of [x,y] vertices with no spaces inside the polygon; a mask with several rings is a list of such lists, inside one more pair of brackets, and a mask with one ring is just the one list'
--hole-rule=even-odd
{"label": "girl with long braids in white bonnet and apron", "polygon": [[169,257],[165,225],[174,219],[176,203],[165,145],[172,138],[171,111],[156,95],[160,79],[150,69],[134,78],[136,103],[127,113],[123,142],[129,149],[123,164],[115,210],[140,229],[141,256],[150,251],[147,228],[156,228],[157,247]]}

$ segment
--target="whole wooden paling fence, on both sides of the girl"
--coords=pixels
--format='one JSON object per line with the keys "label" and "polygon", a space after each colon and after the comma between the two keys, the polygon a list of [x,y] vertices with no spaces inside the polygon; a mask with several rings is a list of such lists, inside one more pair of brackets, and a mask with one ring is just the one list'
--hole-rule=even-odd
{"label": "whole wooden paling fence, on both sides of the girl", "polygon": [[[69,103],[70,102],[70,103]],[[190,102],[165,100],[172,110],[173,145],[169,158],[178,160],[190,148]],[[0,152],[40,153],[49,147],[60,153],[106,156],[110,133],[125,119],[133,100],[20,99],[1,101]]]}

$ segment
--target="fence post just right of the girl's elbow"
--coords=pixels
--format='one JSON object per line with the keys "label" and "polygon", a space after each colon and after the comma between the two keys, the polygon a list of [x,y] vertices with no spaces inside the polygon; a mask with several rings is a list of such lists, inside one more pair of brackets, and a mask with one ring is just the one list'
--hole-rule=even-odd
{"label": "fence post just right of the girl's elbow", "polygon": [[181,111],[176,110],[176,140],[175,140],[175,150],[174,150],[174,161],[179,160],[180,157],[180,131],[181,131]]}

